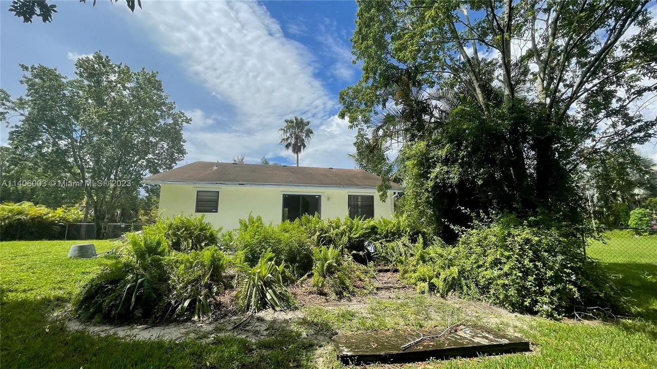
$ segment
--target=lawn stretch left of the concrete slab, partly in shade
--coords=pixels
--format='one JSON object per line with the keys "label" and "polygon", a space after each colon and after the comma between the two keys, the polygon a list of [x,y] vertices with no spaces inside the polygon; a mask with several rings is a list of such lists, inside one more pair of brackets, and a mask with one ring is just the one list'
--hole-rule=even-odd
{"label": "lawn stretch left of the concrete slab, partly in shade", "polygon": [[[93,242],[98,252],[113,246]],[[0,366],[5,368],[310,368],[313,346],[289,330],[256,343],[139,341],[66,330],[53,318],[105,259],[68,259],[76,241],[0,242]]]}

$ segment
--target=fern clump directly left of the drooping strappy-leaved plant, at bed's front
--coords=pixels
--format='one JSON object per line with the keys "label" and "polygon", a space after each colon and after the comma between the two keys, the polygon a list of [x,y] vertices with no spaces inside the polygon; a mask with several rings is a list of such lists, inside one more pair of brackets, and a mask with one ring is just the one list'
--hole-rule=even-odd
{"label": "fern clump directly left of the drooping strappy-leaved plant, at bed's front", "polygon": [[226,271],[228,257],[216,246],[190,253],[175,253],[170,259],[170,303],[178,316],[191,315],[200,320],[218,305],[215,296],[229,286]]}

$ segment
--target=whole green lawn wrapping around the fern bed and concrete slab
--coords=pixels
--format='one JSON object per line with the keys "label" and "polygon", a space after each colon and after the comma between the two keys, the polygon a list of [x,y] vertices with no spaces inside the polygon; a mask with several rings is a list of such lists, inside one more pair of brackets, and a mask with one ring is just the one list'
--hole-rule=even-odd
{"label": "whole green lawn wrapping around the fern bed and concrete slab", "polygon": [[[354,306],[304,307],[302,318],[283,333],[260,341],[239,337],[190,337],[139,341],[66,330],[53,313],[66,309],[79,284],[104,259],[68,259],[74,241],[0,242],[0,366],[2,368],[336,368],[327,345],[304,332],[367,332],[378,329],[483,322],[536,343],[530,354],[409,364],[403,368],[656,368],[657,295],[654,259],[611,261],[623,273],[623,290],[637,300],[644,319],[556,322],[514,315],[459,299],[406,293],[371,297]],[[112,248],[95,241],[99,252]],[[649,263],[652,261],[652,263]],[[652,265],[652,269],[646,266]],[[647,268],[647,269],[646,269]],[[625,274],[628,273],[629,274]],[[383,368],[385,366],[373,366]],[[397,366],[395,366],[397,368]]]}

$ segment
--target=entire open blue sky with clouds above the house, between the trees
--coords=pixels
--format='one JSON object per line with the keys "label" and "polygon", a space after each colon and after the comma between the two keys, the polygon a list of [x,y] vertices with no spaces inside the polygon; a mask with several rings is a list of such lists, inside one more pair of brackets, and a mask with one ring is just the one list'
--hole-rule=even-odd
{"label": "entire open blue sky with clouds above the house, between the trees", "polygon": [[354,132],[336,116],[338,92],[360,77],[350,53],[353,1],[149,0],[134,14],[122,1],[55,3],[47,24],[23,24],[6,11],[9,1],[0,3],[0,87],[12,97],[24,93],[19,63],[73,76],[77,57],[100,50],[158,71],[171,100],[193,118],[182,163],[237,155],[293,163],[277,130],[299,115],[315,130],[302,165],[353,167]]}

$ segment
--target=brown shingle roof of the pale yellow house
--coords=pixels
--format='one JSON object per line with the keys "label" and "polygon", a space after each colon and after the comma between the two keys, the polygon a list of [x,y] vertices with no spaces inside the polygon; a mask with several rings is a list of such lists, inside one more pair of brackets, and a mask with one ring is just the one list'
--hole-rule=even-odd
{"label": "brown shingle roof of the pale yellow house", "polygon": [[[216,167],[216,168],[215,168]],[[214,169],[215,168],[215,169]],[[152,175],[146,181],[244,183],[374,188],[381,179],[361,169],[292,167],[286,165],[194,162]],[[392,188],[401,188],[392,183]]]}

